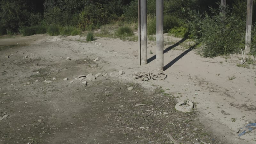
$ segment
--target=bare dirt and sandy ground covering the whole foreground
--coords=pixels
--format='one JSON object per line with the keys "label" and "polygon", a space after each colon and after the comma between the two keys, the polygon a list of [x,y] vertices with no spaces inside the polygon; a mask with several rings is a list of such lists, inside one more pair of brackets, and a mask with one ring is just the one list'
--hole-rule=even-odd
{"label": "bare dirt and sandy ground covering the whole foreground", "polygon": [[[183,144],[256,143],[255,131],[236,133],[256,122],[255,63],[238,67],[239,55],[202,58],[193,42],[165,36],[167,78],[140,81],[134,72],[156,68],[154,42],[149,63],[139,66],[138,42],[84,40],[0,38],[0,143],[172,143],[169,134]],[[89,73],[108,76],[80,84],[77,77]],[[191,113],[175,110],[184,100],[194,102]]]}

